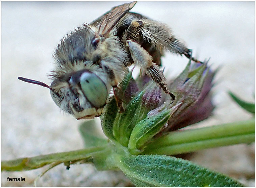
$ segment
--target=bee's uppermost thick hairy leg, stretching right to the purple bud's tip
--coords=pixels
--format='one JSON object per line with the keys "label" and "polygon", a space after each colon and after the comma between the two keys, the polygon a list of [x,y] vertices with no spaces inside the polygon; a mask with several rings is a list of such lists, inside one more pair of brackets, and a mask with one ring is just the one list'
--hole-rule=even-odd
{"label": "bee's uppermost thick hairy leg, stretching right to the purple bud's tip", "polygon": [[144,40],[150,41],[151,44],[156,46],[156,49],[163,48],[164,50],[184,55],[197,63],[203,63],[192,57],[192,50],[180,42],[167,25],[150,19],[142,19],[137,22],[140,23],[140,30]]}

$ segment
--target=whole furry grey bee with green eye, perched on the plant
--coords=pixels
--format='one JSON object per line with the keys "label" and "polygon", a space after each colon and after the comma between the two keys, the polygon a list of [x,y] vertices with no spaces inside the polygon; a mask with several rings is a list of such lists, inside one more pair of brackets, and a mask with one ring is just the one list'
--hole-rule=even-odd
{"label": "whole furry grey bee with green eye, perched on the plant", "polygon": [[50,74],[50,86],[18,79],[49,88],[57,106],[77,120],[102,114],[112,88],[118,87],[132,64],[139,66],[140,75],[151,77],[174,101],[159,67],[161,56],[170,51],[200,61],[191,56],[192,51],[176,39],[168,26],[129,12],[135,4],[113,7],[64,37],[53,54],[56,67]]}

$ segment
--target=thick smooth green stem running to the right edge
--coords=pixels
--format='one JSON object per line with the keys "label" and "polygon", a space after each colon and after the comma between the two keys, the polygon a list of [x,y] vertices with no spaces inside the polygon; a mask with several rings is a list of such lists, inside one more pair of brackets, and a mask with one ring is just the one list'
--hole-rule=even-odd
{"label": "thick smooth green stem running to the right edge", "polygon": [[170,132],[155,138],[142,154],[175,155],[201,149],[251,143],[255,121],[228,123],[198,129]]}

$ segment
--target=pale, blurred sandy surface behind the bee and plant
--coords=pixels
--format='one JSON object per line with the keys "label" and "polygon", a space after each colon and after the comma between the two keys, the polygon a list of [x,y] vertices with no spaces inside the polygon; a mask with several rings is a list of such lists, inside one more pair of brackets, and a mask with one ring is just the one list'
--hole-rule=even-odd
{"label": "pale, blurred sandy surface behind the bee and plant", "polygon": [[[216,76],[214,116],[200,125],[241,121],[251,115],[231,101],[231,90],[254,101],[255,2],[138,2],[132,9],[168,24],[199,59],[211,57]],[[83,148],[77,121],[54,104],[46,88],[18,76],[50,84],[52,53],[68,31],[89,23],[123,2],[1,2],[1,160]],[[168,77],[178,75],[187,59],[163,58]],[[195,153],[191,160],[254,186],[254,143]],[[2,186],[31,186],[43,169],[1,173]],[[7,177],[25,183],[7,183]],[[39,186],[127,186],[121,172],[98,172],[92,165],[60,165]]]}

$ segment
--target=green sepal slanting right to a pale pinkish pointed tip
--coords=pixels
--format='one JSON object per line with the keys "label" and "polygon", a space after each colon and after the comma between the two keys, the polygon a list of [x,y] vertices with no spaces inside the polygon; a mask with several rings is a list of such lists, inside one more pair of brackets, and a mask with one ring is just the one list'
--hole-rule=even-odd
{"label": "green sepal slanting right to a pale pinkish pointed tip", "polygon": [[142,147],[145,143],[162,129],[179,105],[180,104],[168,110],[163,110],[156,115],[146,117],[135,125],[128,144],[128,149],[131,154],[138,155],[143,152]]}

